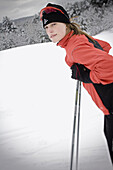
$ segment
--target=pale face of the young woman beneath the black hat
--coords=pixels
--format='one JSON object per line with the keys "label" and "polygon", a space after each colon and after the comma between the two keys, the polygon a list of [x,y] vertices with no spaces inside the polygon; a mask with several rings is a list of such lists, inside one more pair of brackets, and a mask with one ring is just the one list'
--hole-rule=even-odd
{"label": "pale face of the young woman beneath the black hat", "polygon": [[66,35],[66,24],[60,22],[52,22],[45,26],[45,30],[49,39],[56,43]]}

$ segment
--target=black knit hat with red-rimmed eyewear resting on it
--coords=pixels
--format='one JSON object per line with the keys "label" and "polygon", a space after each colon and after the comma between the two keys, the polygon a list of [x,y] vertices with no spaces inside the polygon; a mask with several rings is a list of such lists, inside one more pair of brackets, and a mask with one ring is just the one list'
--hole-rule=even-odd
{"label": "black knit hat with red-rimmed eyewear resting on it", "polygon": [[52,22],[70,23],[66,10],[60,5],[51,3],[48,3],[47,6],[40,11],[40,19],[43,22],[43,27]]}

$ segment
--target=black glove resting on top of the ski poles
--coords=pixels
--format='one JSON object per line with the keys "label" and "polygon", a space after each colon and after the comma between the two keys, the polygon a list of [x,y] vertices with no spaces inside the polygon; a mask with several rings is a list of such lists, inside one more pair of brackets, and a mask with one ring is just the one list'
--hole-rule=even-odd
{"label": "black glove resting on top of the ski poles", "polygon": [[84,83],[93,83],[90,79],[90,70],[82,64],[75,63],[71,66],[71,78],[80,80]]}

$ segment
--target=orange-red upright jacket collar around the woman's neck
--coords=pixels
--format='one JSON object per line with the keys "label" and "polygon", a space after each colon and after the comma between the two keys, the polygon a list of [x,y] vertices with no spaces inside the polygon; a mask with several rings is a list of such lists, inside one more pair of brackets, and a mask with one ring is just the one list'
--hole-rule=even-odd
{"label": "orange-red upright jacket collar around the woman's neck", "polygon": [[71,32],[69,32],[64,38],[62,38],[58,43],[57,46],[60,46],[62,48],[65,48],[68,44],[69,39],[71,38],[71,36],[73,35],[73,30]]}

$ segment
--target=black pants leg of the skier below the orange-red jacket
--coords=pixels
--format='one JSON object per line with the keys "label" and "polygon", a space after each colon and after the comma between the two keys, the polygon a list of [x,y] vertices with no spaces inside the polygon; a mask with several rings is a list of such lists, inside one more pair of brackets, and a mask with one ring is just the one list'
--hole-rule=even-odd
{"label": "black pants leg of the skier below the orange-red jacket", "polygon": [[109,153],[113,164],[113,115],[105,115],[104,133],[107,139]]}

